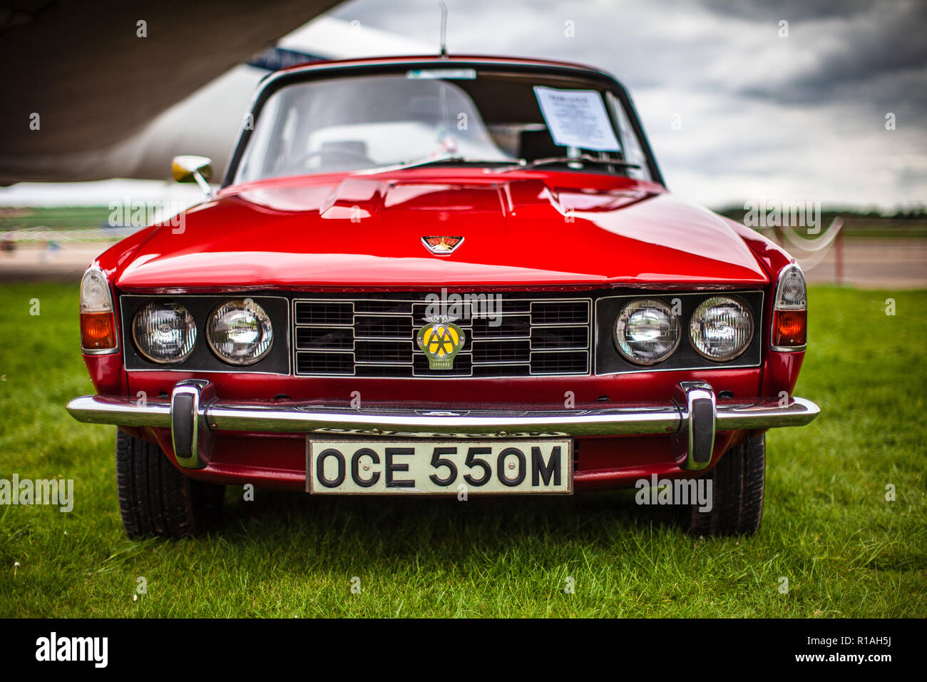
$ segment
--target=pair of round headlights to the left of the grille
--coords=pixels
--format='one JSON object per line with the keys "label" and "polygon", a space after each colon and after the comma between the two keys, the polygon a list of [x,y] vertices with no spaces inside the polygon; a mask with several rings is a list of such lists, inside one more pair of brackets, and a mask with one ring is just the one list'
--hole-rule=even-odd
{"label": "pair of round headlights to the left of the grille", "polygon": [[[151,362],[183,362],[197,345],[197,323],[178,302],[151,302],[133,319],[135,348]],[[216,306],[206,322],[212,353],[229,365],[253,365],[273,343],[271,318],[258,303],[234,299]]]}

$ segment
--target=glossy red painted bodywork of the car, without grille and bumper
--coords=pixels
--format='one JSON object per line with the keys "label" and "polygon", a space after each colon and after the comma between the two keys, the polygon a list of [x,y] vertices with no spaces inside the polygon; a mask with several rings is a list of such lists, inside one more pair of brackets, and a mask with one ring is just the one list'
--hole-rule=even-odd
{"label": "glossy red painted bodywork of the car, without grille and bumper", "polygon": [[[325,66],[302,69],[320,68]],[[465,240],[451,254],[438,256],[421,243],[425,235]],[[182,231],[149,227],[98,259],[113,287],[117,316],[118,297],[126,292],[641,288],[765,290],[764,321],[771,319],[776,276],[790,262],[787,253],[753,230],[675,198],[658,183],[604,173],[499,174],[472,167],[315,174],[232,185],[187,211]],[[597,402],[601,396],[611,404],[667,401],[680,380],[705,380],[738,402],[793,391],[804,353],[772,352],[765,327],[760,367],[609,376],[434,381],[235,371],[197,375],[126,371],[121,349],[85,354],[84,362],[97,392],[131,397],[170,394],[178,380],[200,376],[227,400],[272,401],[285,393],[298,402],[347,405],[351,392],[360,391],[368,405],[461,407],[491,401],[558,407],[572,391],[582,407],[603,405]],[[138,432],[157,439],[172,457],[169,431]],[[713,465],[744,435],[718,433]],[[654,473],[692,476],[679,470],[668,436],[578,438],[576,446],[577,490],[620,487]],[[303,490],[305,438],[220,433],[210,466],[183,471],[215,483]]]}

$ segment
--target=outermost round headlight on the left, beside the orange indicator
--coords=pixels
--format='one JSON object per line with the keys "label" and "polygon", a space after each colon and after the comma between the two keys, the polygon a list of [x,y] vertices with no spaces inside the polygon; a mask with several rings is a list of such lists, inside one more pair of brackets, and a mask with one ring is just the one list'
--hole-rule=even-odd
{"label": "outermost round headlight on the left, beside the orange indicator", "polygon": [[138,352],[151,362],[177,363],[193,352],[197,323],[180,303],[148,303],[135,314],[132,338]]}

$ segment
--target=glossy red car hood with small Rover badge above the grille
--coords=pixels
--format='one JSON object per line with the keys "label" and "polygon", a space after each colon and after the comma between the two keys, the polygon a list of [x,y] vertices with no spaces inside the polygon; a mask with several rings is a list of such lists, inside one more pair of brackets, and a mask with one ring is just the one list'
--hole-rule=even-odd
{"label": "glossy red car hood with small Rover badge above the grille", "polygon": [[[516,175],[517,176],[514,176]],[[226,191],[150,231],[116,279],[151,288],[763,285],[743,239],[653,183],[604,175],[349,176]],[[577,187],[578,178],[585,178]],[[317,182],[317,181],[316,181]],[[436,255],[424,237],[464,238]]]}

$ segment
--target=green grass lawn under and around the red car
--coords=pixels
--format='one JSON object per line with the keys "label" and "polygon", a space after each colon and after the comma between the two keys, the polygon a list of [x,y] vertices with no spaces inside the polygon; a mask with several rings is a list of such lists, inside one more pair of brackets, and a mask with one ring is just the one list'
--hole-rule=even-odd
{"label": "green grass lawn under and around the red car", "polygon": [[823,414],[770,431],[753,538],[693,539],[628,493],[245,502],[230,488],[217,533],[130,542],[115,429],[64,411],[92,391],[76,290],[0,286],[0,478],[75,482],[70,513],[0,506],[0,616],[927,615],[925,291],[812,290],[797,393]]}

